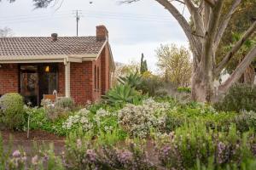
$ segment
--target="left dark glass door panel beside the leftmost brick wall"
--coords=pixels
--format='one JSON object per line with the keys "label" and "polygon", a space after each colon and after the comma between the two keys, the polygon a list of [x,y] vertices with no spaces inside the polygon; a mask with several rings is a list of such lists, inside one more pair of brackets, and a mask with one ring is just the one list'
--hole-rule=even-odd
{"label": "left dark glass door panel beside the leftmost brick wall", "polygon": [[38,66],[20,65],[20,94],[26,104],[38,105]]}

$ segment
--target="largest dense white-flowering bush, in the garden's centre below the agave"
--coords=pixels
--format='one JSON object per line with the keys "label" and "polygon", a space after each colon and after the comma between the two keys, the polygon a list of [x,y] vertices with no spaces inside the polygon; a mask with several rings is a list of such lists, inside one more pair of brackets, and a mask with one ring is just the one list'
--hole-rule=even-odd
{"label": "largest dense white-flowering bush, in the garden's centre below the agave", "polygon": [[150,129],[157,131],[165,128],[166,111],[168,103],[155,102],[154,99],[146,99],[143,105],[128,104],[118,112],[119,124],[133,137],[145,138]]}

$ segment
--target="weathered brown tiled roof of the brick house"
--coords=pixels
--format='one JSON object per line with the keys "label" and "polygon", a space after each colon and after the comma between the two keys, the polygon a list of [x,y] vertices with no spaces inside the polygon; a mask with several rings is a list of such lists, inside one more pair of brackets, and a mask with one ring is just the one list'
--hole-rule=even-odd
{"label": "weathered brown tiled roof of the brick house", "polygon": [[96,37],[3,37],[0,38],[1,56],[98,54],[104,41]]}

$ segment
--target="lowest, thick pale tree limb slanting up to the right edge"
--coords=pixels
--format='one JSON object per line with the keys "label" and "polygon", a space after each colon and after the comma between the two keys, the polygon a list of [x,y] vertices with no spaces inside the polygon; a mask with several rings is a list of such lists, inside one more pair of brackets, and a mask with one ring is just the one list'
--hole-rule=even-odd
{"label": "lowest, thick pale tree limb slanting up to the right edge", "polygon": [[254,47],[247,56],[241,61],[241,63],[236,67],[236,70],[230,75],[228,80],[226,80],[222,85],[218,87],[221,92],[226,92],[227,89],[232,86],[233,83],[237,82],[241,75],[246,71],[247,67],[252,63],[253,59],[256,58],[256,47]]}

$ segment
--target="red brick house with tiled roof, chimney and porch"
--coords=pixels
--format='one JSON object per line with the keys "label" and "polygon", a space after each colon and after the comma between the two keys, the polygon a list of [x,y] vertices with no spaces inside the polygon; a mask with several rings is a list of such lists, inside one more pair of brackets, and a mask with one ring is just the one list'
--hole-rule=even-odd
{"label": "red brick house with tiled roof, chimney and porch", "polygon": [[0,38],[0,95],[20,93],[34,105],[54,91],[78,105],[96,101],[113,70],[105,26],[96,26],[96,37]]}

